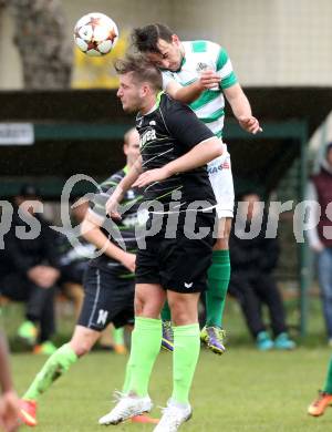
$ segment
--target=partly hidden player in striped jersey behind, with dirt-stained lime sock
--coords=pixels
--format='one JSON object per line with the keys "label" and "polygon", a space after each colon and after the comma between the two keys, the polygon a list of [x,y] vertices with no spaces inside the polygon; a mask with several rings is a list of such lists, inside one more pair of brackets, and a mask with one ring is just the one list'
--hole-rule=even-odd
{"label": "partly hidden player in striped jersey behind, with dirt-stained lime sock", "polygon": [[[84,276],[84,302],[69,343],[59,348],[45,362],[34,378],[21,401],[21,418],[25,424],[37,424],[37,401],[53,381],[66,372],[80,357],[86,354],[100,338],[101,331],[113,322],[122,327],[134,321],[134,270],[136,260],[136,240],[134,226],[137,220],[136,210],[141,200],[137,189],[129,188],[123,204],[133,204],[120,222],[122,239],[126,251],[116,238],[107,230],[108,218],[105,219],[105,203],[114,188],[126,175],[138,157],[138,133],[129,130],[124,136],[124,153],[127,165],[101,184],[91,208],[82,224],[82,234],[103,254],[91,259]],[[110,226],[110,225],[108,225]],[[118,240],[118,239],[117,239]]]}

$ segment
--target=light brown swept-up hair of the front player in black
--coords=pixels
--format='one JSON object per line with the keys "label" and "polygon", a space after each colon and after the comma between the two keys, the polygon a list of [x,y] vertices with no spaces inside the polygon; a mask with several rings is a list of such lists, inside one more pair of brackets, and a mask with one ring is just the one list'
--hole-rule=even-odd
{"label": "light brown swept-up hair of the front player in black", "polygon": [[162,90],[162,72],[142,55],[127,55],[115,62],[114,68],[120,75],[132,72],[138,82],[148,82],[155,91]]}

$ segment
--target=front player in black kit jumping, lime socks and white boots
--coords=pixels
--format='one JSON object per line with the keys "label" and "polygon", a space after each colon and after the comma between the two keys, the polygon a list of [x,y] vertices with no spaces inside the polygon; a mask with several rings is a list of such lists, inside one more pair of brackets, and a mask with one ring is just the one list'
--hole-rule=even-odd
{"label": "front player in black kit jumping, lime socks and white boots", "polygon": [[100,423],[117,424],[152,409],[148,382],[167,298],[174,325],[173,394],[155,431],[176,431],[191,416],[188,395],[200,348],[197,304],[215,244],[216,199],[206,164],[221,155],[222,147],[187,105],[160,91],[162,75],[153,64],[128,56],[116,70],[124,111],[138,112],[141,158],[116,187],[107,210],[121,216],[118,202],[128,187],[137,186],[149,203],[149,217],[145,244],[138,244],[135,328],[125,387]]}

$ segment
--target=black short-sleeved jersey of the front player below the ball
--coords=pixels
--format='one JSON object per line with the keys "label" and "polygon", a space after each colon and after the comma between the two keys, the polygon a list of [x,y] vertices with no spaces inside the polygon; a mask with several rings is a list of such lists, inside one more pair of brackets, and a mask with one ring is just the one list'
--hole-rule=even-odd
{"label": "black short-sleeved jersey of the front player below the ball", "polygon": [[[138,114],[136,127],[143,171],[160,168],[178,158],[200,142],[214,137],[212,132],[201,123],[187,105],[160,92],[157,104],[151,113]],[[180,191],[180,209],[195,200],[205,200],[208,206],[216,205],[215,195],[206,166],[179,173],[148,185],[144,191],[145,200],[158,200],[167,205],[174,191]]]}

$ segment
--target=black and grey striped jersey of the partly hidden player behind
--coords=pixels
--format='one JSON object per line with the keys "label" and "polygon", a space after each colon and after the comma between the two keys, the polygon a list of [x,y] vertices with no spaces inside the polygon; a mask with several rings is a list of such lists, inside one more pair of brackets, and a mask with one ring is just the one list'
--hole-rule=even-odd
{"label": "black and grey striped jersey of the partly hidden player behind", "polygon": [[[95,216],[104,219],[104,224],[101,229],[112,243],[118,247],[124,245],[126,251],[135,254],[137,251],[137,241],[135,238],[135,226],[138,224],[137,209],[143,199],[139,191],[137,188],[128,189],[124,196],[124,199],[121,202],[123,208],[126,206],[128,208],[122,214],[122,218],[120,220],[113,220],[113,223],[116,224],[116,227],[118,228],[118,236],[116,235],[116,229],[112,229],[112,223],[108,215],[106,215],[105,209],[106,202],[112,195],[112,192],[123,179],[126,173],[127,167],[113,174],[110,178],[100,185],[98,192],[94,195],[93,200],[90,203],[90,212],[92,212]],[[90,266],[111,271],[121,278],[134,277],[134,274],[132,274],[121,263],[110,258],[105,254],[91,259]]]}

